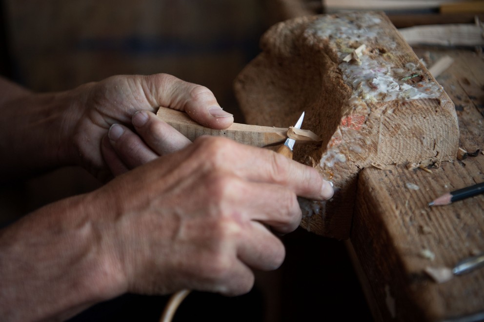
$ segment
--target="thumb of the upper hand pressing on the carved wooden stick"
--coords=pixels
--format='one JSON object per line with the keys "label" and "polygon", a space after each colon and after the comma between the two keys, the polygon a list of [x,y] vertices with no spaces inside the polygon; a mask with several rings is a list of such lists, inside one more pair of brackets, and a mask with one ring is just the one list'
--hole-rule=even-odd
{"label": "thumb of the upper hand pressing on the carved wooden stick", "polygon": [[199,124],[217,130],[228,128],[234,116],[222,110],[213,93],[202,85],[185,82],[167,74],[152,75],[147,79],[146,93],[154,107],[168,107],[186,112]]}

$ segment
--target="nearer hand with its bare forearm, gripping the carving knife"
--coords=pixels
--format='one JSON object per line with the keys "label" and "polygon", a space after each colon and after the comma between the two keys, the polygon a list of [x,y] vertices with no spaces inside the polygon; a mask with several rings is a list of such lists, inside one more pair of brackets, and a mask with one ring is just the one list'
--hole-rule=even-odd
{"label": "nearer hand with its bare forearm, gripping the carving knife", "polygon": [[65,318],[125,292],[242,294],[253,285],[252,269],[275,269],[284,259],[268,227],[298,227],[296,196],[332,194],[311,167],[201,137],[0,230],[0,314]]}

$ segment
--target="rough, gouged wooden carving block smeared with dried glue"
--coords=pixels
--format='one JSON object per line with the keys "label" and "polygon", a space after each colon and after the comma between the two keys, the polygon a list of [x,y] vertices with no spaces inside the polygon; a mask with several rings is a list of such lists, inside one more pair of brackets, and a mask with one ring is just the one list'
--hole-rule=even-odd
{"label": "rough, gouged wooden carving block smeared with dried glue", "polygon": [[308,230],[349,237],[365,167],[455,158],[454,105],[384,14],[291,19],[261,46],[235,82],[247,122],[282,127],[305,111],[302,128],[322,144],[296,145],[294,157],[335,186],[332,200],[302,205]]}

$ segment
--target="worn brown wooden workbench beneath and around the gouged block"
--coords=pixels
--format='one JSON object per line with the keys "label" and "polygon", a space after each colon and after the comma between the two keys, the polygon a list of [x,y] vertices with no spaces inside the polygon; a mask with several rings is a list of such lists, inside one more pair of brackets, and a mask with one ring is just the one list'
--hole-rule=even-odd
{"label": "worn brown wooden workbench beneath and around the gouged block", "polygon": [[[315,1],[269,2],[278,8],[274,21],[322,13]],[[408,21],[397,18],[397,23]],[[429,67],[444,55],[454,58],[437,81],[455,104],[459,146],[481,151],[462,161],[443,162],[431,172],[404,165],[364,169],[346,246],[375,321],[464,321],[458,319],[484,312],[484,268],[441,284],[424,270],[452,267],[484,251],[484,195],[448,206],[427,204],[445,192],[484,182],[484,57],[474,49],[413,49]]]}

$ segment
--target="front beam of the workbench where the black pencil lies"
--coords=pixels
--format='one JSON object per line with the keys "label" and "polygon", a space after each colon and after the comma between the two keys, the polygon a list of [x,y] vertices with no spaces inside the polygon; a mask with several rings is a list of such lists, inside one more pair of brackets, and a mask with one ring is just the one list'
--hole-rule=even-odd
{"label": "front beam of the workbench where the black pencil lies", "polygon": [[351,231],[370,282],[368,299],[378,307],[378,312],[373,309],[376,321],[453,321],[482,311],[482,269],[444,283],[426,270],[449,269],[483,251],[483,196],[448,207],[427,204],[444,192],[482,182],[484,158],[466,165],[445,162],[432,173],[404,166],[384,172],[368,168],[360,173]]}

